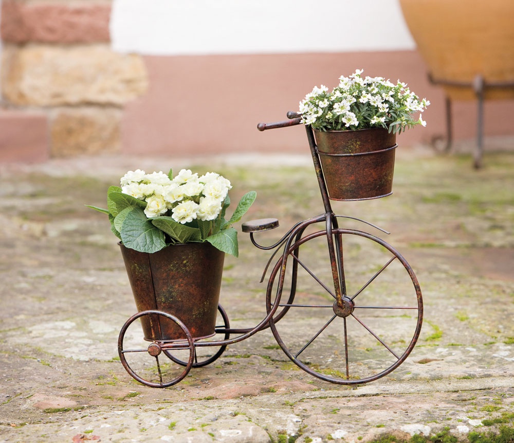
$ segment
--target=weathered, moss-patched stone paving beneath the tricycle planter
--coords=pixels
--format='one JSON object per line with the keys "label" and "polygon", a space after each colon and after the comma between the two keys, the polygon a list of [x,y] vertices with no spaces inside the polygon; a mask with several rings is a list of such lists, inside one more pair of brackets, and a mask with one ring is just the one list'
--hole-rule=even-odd
{"label": "weathered, moss-patched stone paving beneath the tricycle planter", "polygon": [[[279,218],[271,242],[293,222],[323,212],[309,161],[113,156],[3,165],[0,442],[365,443],[384,435],[408,441],[415,434],[469,441],[491,432],[510,432],[504,441],[512,441],[510,152],[487,153],[476,171],[468,155],[398,150],[393,196],[334,204],[337,214],[390,231],[344,221],[384,237],[419,279],[423,329],[391,374],[352,386],[324,382],[290,362],[269,329],[166,389],[143,386],[126,373],[117,340],[135,313],[134,300],[108,221],[84,205],[105,206],[107,186],[129,169],[213,170],[231,180],[233,201],[258,191],[247,219]],[[245,234],[239,238],[240,257],[225,261],[221,303],[231,326],[251,327],[265,315],[259,280],[268,255]],[[365,267],[372,258],[355,254],[351,261]],[[286,320],[284,334],[308,330],[312,322]],[[400,320],[392,336],[401,334]],[[323,353],[318,358],[315,363],[325,363]]]}

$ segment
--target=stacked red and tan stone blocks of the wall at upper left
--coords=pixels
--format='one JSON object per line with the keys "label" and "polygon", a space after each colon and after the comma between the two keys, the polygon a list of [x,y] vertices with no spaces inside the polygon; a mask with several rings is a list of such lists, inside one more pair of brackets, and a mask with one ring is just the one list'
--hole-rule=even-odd
{"label": "stacked red and tan stone blocks of the wall at upper left", "polygon": [[110,14],[108,1],[3,0],[0,160],[120,149],[124,106],[148,75],[140,56],[111,50]]}

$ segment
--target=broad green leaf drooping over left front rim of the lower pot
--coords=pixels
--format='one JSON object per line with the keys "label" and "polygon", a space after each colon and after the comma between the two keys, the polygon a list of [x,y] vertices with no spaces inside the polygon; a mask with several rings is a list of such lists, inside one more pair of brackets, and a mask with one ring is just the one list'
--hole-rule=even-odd
{"label": "broad green leaf drooping over left front rim of the lower pot", "polygon": [[146,218],[140,207],[127,212],[120,233],[123,244],[139,252],[151,254],[166,246],[164,233]]}

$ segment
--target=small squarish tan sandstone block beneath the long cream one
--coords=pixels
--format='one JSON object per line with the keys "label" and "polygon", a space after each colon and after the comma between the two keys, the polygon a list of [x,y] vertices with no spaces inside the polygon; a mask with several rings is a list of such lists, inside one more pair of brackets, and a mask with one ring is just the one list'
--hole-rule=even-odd
{"label": "small squarish tan sandstone block beneath the long cream one", "polygon": [[59,108],[52,111],[52,157],[114,152],[120,148],[122,111],[117,108]]}

